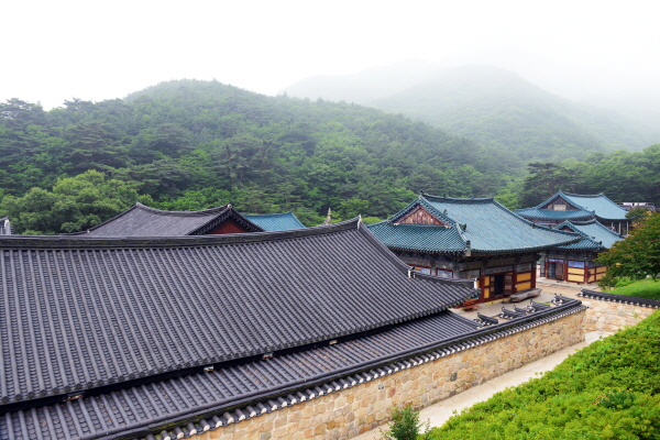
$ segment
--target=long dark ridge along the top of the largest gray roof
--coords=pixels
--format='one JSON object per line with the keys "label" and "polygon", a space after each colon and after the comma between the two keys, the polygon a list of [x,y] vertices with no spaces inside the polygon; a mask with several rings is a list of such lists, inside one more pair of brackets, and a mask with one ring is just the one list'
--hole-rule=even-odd
{"label": "long dark ridge along the top of the largest gray roof", "polygon": [[85,235],[7,235],[0,237],[0,249],[130,249],[193,248],[242,243],[261,243],[331,234],[358,228],[359,219],[330,226],[273,232],[183,237],[85,237]]}

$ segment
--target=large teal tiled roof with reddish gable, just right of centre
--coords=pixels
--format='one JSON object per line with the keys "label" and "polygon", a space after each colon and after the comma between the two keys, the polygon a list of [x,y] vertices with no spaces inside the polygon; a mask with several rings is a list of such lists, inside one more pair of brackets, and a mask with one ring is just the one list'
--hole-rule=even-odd
{"label": "large teal tiled roof with reddish gable, just right of centre", "polygon": [[[448,224],[397,224],[417,206]],[[427,253],[539,251],[579,241],[580,235],[539,227],[493,198],[454,199],[424,195],[385,222],[369,227],[388,248]]]}

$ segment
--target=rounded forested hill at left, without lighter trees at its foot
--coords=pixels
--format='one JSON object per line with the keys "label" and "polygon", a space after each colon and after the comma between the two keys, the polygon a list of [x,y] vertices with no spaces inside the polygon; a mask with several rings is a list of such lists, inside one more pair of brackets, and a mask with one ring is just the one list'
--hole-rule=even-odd
{"label": "rounded forested hill at left, without lighter trees at its foot", "polygon": [[0,188],[12,197],[95,169],[165,209],[233,202],[294,209],[314,223],[329,207],[385,217],[420,189],[493,194],[516,173],[505,160],[484,161],[493,154],[403,117],[216,81],[169,81],[47,112],[18,99],[0,105]]}

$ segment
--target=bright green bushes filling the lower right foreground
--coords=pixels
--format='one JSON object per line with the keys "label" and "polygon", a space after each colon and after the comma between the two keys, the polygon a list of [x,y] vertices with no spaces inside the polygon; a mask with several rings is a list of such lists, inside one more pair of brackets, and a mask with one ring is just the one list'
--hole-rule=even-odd
{"label": "bright green bushes filling the lower right foreground", "polygon": [[658,359],[660,312],[452,417],[431,439],[659,439]]}

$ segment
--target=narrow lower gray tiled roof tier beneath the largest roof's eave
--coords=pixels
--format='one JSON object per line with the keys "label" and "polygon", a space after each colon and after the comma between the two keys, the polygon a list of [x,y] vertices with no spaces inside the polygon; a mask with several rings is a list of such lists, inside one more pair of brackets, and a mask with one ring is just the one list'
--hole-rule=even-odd
{"label": "narrow lower gray tiled roof tier beneath the largest roof's eave", "polygon": [[[4,417],[0,416],[0,438],[7,438],[3,437],[3,428],[11,431],[16,440],[37,438],[30,432],[38,432],[40,438],[55,440],[128,430],[136,425],[147,425],[144,420],[152,425],[158,419],[180,417],[183,408],[193,414],[213,405],[221,407],[223,403],[229,406],[228,402],[240,402],[249,394],[267,395],[273,394],[273,389],[286,388],[295,382],[305,383],[323,375],[332,377],[331,374],[338,370],[438,343],[476,329],[476,322],[442,311],[333,345],[326,344],[270,360],[38,407],[34,411],[13,411],[9,415],[9,421],[2,420]],[[130,405],[127,404],[129,402]],[[80,417],[81,414],[87,417]],[[185,425],[184,422],[183,426]]]}

